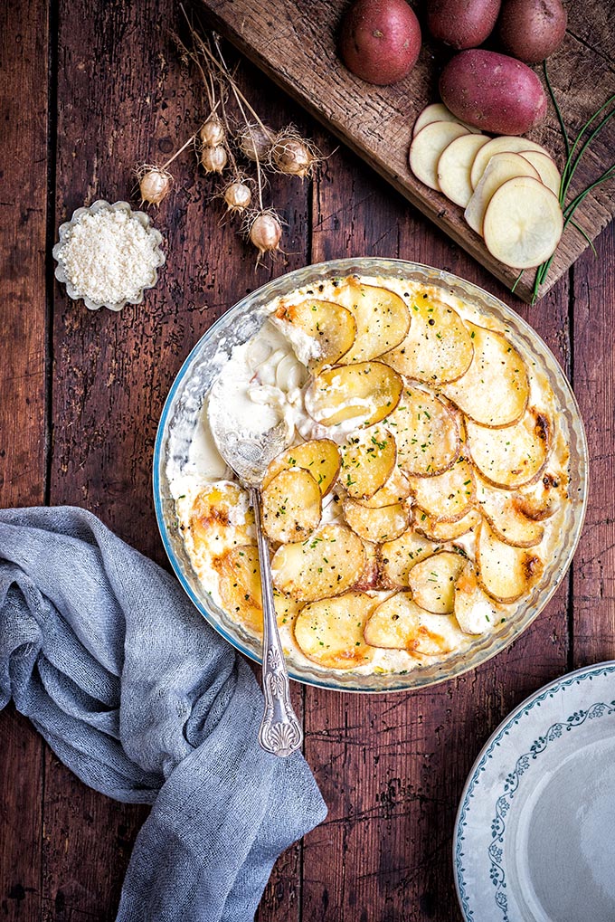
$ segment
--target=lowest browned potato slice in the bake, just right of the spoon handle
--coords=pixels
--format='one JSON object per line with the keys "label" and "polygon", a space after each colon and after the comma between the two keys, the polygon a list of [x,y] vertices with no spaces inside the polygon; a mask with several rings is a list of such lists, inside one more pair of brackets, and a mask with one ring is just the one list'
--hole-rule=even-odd
{"label": "lowest browned potato slice in the bake, just right of the spoon handle", "polygon": [[377,602],[362,592],[347,592],[306,605],[295,621],[302,653],[329,669],[354,669],[369,663],[371,649],[363,628]]}

